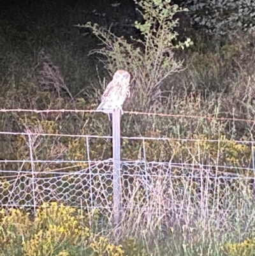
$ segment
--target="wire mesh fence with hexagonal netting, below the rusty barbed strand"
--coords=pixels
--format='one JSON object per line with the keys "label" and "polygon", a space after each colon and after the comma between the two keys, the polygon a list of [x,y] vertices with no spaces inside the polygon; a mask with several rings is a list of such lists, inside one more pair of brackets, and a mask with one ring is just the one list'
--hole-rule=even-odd
{"label": "wire mesh fence with hexagonal netting, below the rusty barbed strand", "polygon": [[[116,189],[113,185],[113,159],[94,160],[90,155],[90,139],[106,140],[112,139],[112,136],[55,134],[31,130],[1,131],[0,134],[23,135],[28,144],[26,159],[0,160],[1,207],[24,206],[35,210],[44,202],[57,201],[88,211],[98,209],[103,214],[112,215]],[[43,154],[40,159],[38,155],[35,156],[35,151],[42,145],[35,146],[33,141],[38,136],[82,137],[86,142],[86,160],[50,160],[43,159]],[[247,216],[254,211],[255,165],[252,141],[235,140],[235,143],[245,144],[251,149],[249,164],[235,166],[210,163],[210,160],[184,162],[180,158],[178,161],[173,160],[171,155],[168,162],[147,160],[145,144],[149,140],[201,142],[201,139],[122,136],[123,139],[140,140],[143,145],[142,159],[119,162],[120,211],[123,216],[136,212],[147,221],[150,218],[158,218],[160,221],[178,219],[185,223],[193,222],[194,218],[207,219],[215,216],[217,223],[222,223],[222,216]],[[206,141],[219,144],[219,140]]]}

